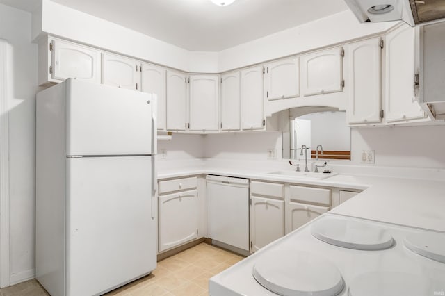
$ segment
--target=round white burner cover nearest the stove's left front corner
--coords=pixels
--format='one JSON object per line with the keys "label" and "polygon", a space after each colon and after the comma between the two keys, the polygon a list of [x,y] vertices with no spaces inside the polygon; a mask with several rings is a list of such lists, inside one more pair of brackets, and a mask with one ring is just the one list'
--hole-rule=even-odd
{"label": "round white burner cover nearest the stove's left front corner", "polygon": [[252,273],[261,286],[283,296],[334,296],[344,286],[332,263],[308,252],[268,252],[258,258]]}

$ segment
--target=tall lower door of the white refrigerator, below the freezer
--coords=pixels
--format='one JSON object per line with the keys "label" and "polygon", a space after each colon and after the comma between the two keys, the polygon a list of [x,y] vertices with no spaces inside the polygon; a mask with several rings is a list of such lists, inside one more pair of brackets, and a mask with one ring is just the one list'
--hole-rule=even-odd
{"label": "tall lower door of the white refrigerator, below the freezer", "polygon": [[67,158],[67,296],[99,295],[156,268],[152,161]]}

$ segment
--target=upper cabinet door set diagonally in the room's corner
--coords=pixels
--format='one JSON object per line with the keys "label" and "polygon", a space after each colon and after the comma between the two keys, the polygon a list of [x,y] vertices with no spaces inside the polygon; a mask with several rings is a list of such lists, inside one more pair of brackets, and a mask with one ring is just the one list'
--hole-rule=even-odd
{"label": "upper cabinet door set diagonally in the room's corner", "polygon": [[190,76],[190,131],[218,131],[219,75]]}

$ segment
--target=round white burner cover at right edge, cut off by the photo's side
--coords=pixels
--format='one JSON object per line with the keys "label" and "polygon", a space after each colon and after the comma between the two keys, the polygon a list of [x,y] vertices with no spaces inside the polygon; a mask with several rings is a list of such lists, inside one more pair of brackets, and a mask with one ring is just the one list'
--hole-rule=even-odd
{"label": "round white burner cover at right edge, cut off by the photo's side", "polygon": [[411,233],[406,236],[405,247],[412,252],[445,263],[445,234],[435,232]]}

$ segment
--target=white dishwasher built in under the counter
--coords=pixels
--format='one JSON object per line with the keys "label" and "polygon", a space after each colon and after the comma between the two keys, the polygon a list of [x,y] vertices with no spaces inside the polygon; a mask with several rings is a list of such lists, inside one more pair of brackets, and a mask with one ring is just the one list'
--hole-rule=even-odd
{"label": "white dishwasher built in under the counter", "polygon": [[207,175],[209,238],[249,250],[249,180]]}

